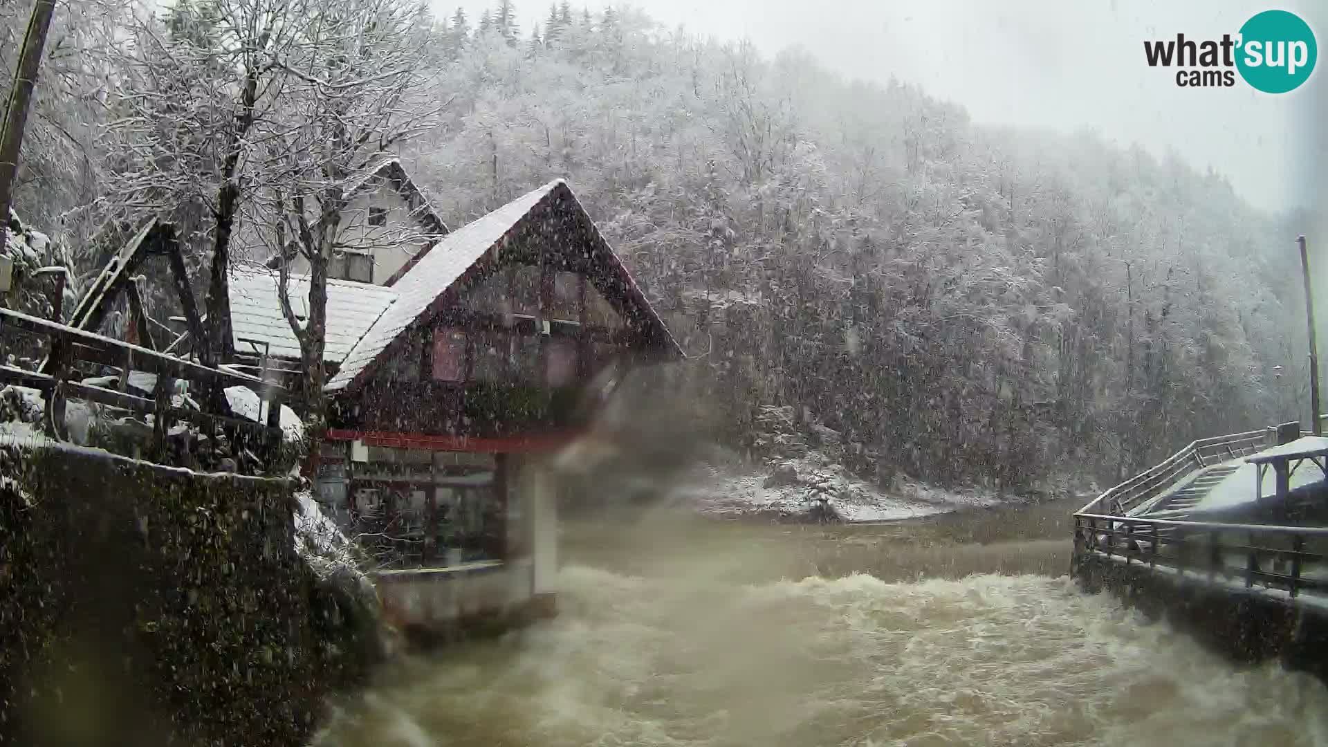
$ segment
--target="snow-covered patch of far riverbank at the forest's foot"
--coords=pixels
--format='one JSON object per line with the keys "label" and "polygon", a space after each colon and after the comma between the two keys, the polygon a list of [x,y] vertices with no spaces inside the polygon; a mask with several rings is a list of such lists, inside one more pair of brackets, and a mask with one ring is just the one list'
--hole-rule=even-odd
{"label": "snow-covered patch of far riverbank at the forest's foot", "polygon": [[[773,484],[772,472],[791,468],[793,482]],[[761,512],[803,514],[817,496],[825,496],[843,521],[898,521],[946,513],[960,508],[1001,502],[980,489],[952,492],[914,480],[899,480],[890,493],[850,475],[838,464],[810,452],[806,457],[778,460],[756,472],[726,472],[706,465],[676,488],[675,500],[712,516],[742,516]]]}

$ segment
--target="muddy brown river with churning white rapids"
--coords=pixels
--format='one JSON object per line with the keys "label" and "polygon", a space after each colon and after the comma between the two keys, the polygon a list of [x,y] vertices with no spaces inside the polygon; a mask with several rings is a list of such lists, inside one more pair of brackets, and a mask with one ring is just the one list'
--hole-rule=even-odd
{"label": "muddy brown river with churning white rapids", "polygon": [[1080,593],[1072,509],[570,521],[556,619],[405,658],[315,744],[1328,743],[1317,681]]}

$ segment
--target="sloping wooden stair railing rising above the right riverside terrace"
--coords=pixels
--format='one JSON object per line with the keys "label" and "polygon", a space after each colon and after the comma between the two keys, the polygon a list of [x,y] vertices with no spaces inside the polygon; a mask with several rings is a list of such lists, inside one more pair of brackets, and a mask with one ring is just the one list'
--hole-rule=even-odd
{"label": "sloping wooden stair railing rising above the right riverside terrace", "polygon": [[1080,509],[1080,513],[1122,516],[1139,504],[1158,497],[1195,471],[1248,456],[1275,444],[1275,429],[1247,431],[1191,441],[1161,464],[1106,489]]}

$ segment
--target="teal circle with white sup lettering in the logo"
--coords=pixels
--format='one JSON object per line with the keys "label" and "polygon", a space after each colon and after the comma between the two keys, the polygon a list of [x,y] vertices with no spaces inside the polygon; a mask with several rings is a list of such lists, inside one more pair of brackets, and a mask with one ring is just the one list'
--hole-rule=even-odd
{"label": "teal circle with white sup lettering in the logo", "polygon": [[1264,11],[1240,27],[1236,69],[1264,93],[1287,93],[1309,78],[1319,58],[1315,32],[1300,16]]}

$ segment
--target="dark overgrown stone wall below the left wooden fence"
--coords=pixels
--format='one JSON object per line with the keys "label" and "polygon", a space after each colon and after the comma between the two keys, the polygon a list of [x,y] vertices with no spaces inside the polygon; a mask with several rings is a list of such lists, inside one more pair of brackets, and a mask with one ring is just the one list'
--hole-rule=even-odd
{"label": "dark overgrown stone wall below the left wooden fence", "polygon": [[303,744],[327,650],[291,485],[0,447],[0,743]]}

